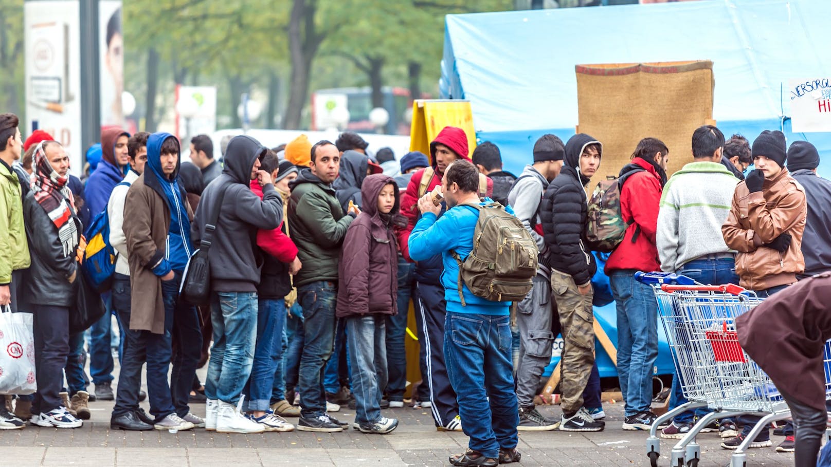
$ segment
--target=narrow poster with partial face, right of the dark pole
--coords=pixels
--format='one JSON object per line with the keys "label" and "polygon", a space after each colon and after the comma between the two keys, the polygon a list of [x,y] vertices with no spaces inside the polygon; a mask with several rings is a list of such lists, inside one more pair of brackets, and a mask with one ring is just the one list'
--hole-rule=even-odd
{"label": "narrow poster with partial face, right of the dark pole", "polygon": [[101,126],[124,127],[121,93],[124,91],[124,36],[120,0],[98,3],[98,43],[101,83]]}

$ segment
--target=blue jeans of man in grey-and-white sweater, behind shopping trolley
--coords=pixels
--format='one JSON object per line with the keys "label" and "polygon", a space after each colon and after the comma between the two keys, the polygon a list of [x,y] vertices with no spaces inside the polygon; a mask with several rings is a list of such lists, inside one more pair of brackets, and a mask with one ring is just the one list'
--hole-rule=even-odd
{"label": "blue jeans of man in grey-and-white sweater, behind shopping trolley", "polygon": [[[720,259],[694,259],[688,261],[681,266],[679,274],[683,274],[688,278],[696,280],[698,283],[706,285],[725,285],[729,283],[739,283],[739,276],[735,273],[735,260],[733,258]],[[672,377],[672,393],[670,396],[670,409],[674,409],[681,404],[686,404],[687,399],[684,397],[684,392],[681,389],[681,384],[678,382],[677,376]],[[692,423],[693,420],[700,418],[709,413],[710,410],[706,408],[699,408],[696,410],[687,410],[681,415],[676,415],[673,421],[676,425],[684,425]]]}

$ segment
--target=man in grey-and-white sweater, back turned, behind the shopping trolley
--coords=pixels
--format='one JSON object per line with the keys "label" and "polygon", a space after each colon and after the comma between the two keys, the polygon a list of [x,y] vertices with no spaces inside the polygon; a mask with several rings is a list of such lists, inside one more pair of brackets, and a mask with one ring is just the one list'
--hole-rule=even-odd
{"label": "man in grey-and-white sweater, back turned, behind the shopping trolley", "polygon": [[[693,161],[672,175],[664,186],[655,241],[661,271],[665,273],[683,274],[711,285],[739,282],[735,253],[721,234],[739,182],[720,162],[724,147],[725,137],[718,128],[699,127],[692,134]],[[670,408],[685,403],[676,377],[672,381]],[[691,430],[696,414],[702,412],[687,410],[676,415],[671,425],[661,430],[661,438],[680,440]],[[736,435],[735,424],[730,420],[723,420],[719,431],[722,437]]]}

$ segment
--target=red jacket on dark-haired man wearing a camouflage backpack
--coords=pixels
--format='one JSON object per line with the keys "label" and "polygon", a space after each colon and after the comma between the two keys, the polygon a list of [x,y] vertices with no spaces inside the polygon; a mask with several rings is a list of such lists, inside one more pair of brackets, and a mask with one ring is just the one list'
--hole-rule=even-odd
{"label": "red jacket on dark-haired man wearing a camouflage backpack", "polygon": [[[606,262],[607,274],[620,269],[637,269],[639,271],[660,271],[658,248],[655,234],[658,224],[658,209],[661,205],[661,175],[646,160],[636,157],[632,164],[645,171],[631,175],[621,190],[621,214],[627,222],[634,219],[623,241]],[[632,236],[640,228],[637,239],[632,243]]]}

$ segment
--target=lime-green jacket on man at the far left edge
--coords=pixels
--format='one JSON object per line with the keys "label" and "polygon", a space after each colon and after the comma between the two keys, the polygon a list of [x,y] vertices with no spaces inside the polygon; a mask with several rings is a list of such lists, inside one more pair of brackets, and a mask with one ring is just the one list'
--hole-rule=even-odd
{"label": "lime-green jacket on man at the far left edge", "polygon": [[0,162],[0,284],[12,282],[12,271],[26,269],[32,259],[23,227],[20,180]]}

